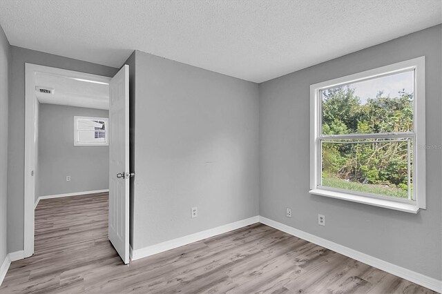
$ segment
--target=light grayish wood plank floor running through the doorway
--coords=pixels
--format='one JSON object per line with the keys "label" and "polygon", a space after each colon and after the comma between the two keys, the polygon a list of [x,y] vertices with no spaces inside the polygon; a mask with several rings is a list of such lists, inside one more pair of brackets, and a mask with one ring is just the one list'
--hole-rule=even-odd
{"label": "light grayish wood plank floor running through the doorway", "polygon": [[433,293],[262,224],[124,265],[107,219],[107,193],[41,200],[0,293]]}

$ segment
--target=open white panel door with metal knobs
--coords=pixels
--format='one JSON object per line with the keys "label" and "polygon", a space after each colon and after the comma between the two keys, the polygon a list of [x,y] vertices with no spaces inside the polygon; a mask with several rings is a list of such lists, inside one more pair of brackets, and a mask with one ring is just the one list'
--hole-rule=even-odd
{"label": "open white panel door with metal knobs", "polygon": [[129,263],[129,66],[109,84],[109,240]]}

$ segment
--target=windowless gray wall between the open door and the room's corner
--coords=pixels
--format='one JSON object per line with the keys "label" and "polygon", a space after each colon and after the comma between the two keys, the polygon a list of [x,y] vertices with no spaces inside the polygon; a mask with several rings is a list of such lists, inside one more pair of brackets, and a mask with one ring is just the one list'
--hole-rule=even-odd
{"label": "windowless gray wall between the open door and the room's corner", "polygon": [[135,63],[133,248],[258,215],[258,85],[139,51]]}

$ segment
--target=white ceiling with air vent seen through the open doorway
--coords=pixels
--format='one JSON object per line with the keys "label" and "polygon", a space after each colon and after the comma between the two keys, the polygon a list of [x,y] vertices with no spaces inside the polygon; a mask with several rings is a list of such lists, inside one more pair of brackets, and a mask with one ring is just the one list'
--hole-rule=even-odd
{"label": "white ceiling with air vent seen through the open doorway", "polygon": [[109,85],[104,82],[36,72],[35,84],[53,89],[52,94],[35,91],[42,104],[109,109]]}

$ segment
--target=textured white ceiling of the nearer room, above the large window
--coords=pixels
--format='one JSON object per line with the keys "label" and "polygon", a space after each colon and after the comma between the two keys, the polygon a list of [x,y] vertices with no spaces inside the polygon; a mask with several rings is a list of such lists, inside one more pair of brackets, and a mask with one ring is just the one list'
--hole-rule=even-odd
{"label": "textured white ceiling of the nearer room, above the large window", "polygon": [[442,22],[440,0],[0,0],[10,43],[119,67],[134,49],[262,82]]}

